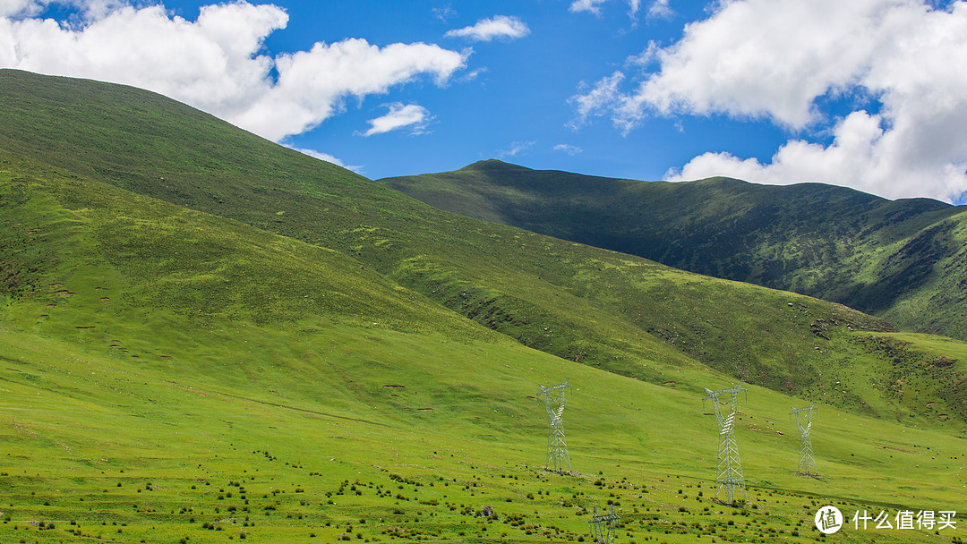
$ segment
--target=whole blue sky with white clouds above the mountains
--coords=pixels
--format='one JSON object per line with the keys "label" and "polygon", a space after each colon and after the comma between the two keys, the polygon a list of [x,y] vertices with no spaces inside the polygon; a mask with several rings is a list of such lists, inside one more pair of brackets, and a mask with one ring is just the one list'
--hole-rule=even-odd
{"label": "whole blue sky with white clouds above the mountains", "polygon": [[962,1],[0,0],[0,67],[152,89],[373,179],[496,157],[967,191]]}

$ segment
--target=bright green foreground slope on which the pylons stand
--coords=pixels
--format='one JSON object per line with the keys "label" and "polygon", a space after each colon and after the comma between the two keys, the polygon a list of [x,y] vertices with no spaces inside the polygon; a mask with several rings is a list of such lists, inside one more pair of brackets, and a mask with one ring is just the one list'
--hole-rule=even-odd
{"label": "bright green foreground slope on which the pylons stand", "polygon": [[[700,391],[726,376],[682,365],[661,387],[551,357],[341,252],[20,158],[0,157],[0,190],[15,271],[0,306],[3,542],[563,542],[607,501],[625,542],[807,542],[823,503],[967,498],[962,430],[821,400],[827,476],[795,475],[788,410],[803,401],[752,386],[737,431],[750,503],[723,507],[709,501],[716,430]],[[967,359],[960,342],[856,334],[889,357]],[[575,475],[539,470],[532,397],[563,378]],[[495,519],[471,515],[484,504]]]}

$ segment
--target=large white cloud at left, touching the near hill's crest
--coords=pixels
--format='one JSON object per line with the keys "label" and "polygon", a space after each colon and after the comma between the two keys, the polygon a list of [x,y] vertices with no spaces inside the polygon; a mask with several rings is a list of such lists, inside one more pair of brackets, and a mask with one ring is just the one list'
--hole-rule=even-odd
{"label": "large white cloud at left, touching the near hill's crest", "polygon": [[[38,5],[0,2],[20,14]],[[189,21],[162,6],[84,4],[105,8],[86,12],[79,25],[31,14],[0,17],[0,67],[150,89],[272,140],[315,127],[346,98],[385,94],[425,75],[443,84],[466,61],[435,44],[378,47],[361,39],[270,57],[261,53],[265,39],[288,23],[273,5],[204,6]]]}

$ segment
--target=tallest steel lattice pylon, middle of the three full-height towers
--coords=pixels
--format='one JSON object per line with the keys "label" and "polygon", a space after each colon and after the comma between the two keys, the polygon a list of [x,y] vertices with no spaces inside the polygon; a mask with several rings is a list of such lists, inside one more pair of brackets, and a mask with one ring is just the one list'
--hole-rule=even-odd
{"label": "tallest steel lattice pylon, middle of the three full-height towers", "polygon": [[[736,496],[742,492],[742,502],[747,501],[746,478],[742,474],[742,460],[739,459],[739,447],[735,442],[735,416],[739,412],[739,393],[746,392],[742,387],[742,381],[734,387],[727,389],[705,389],[707,393],[702,399],[704,407],[705,401],[711,400],[713,411],[718,421],[718,477],[716,478],[715,501],[724,504],[735,505]],[[718,401],[718,397],[725,397],[724,403]],[[727,410],[723,411],[722,406]],[[725,490],[728,498],[726,501],[718,499],[718,495]]]}

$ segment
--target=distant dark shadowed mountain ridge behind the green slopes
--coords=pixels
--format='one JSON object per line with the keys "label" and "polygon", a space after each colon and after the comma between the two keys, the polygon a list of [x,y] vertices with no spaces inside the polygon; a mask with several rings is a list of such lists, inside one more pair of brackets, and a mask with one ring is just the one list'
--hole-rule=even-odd
{"label": "distant dark shadowed mountain ridge behind the green slopes", "polygon": [[646,183],[498,160],[380,182],[457,214],[967,339],[963,206],[820,184]]}

